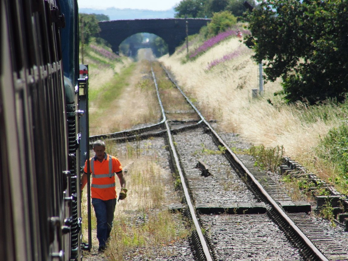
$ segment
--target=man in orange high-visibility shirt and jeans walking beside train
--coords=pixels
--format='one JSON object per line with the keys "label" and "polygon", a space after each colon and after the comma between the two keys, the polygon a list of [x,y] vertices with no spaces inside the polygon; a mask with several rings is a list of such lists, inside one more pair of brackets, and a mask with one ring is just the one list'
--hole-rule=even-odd
{"label": "man in orange high-visibility shirt and jeans walking beside train", "polygon": [[[89,173],[92,173],[92,205],[97,218],[97,238],[99,240],[99,252],[104,252],[106,243],[110,238],[113,223],[113,215],[116,206],[116,181],[115,173],[121,185],[119,199],[127,196],[126,180],[122,173],[120,161],[105,153],[105,143],[97,140],[93,143],[95,156],[89,159]],[[87,160],[84,174],[81,177],[81,190],[87,183]]]}

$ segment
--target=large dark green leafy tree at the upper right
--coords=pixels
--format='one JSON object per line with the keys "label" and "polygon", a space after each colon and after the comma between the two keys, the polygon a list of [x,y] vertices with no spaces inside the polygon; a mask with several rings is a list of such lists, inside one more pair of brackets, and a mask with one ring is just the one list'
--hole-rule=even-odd
{"label": "large dark green leafy tree at the upper right", "polygon": [[346,0],[260,1],[248,15],[253,58],[263,62],[267,80],[282,78],[288,102],[342,101],[348,91],[347,21]]}

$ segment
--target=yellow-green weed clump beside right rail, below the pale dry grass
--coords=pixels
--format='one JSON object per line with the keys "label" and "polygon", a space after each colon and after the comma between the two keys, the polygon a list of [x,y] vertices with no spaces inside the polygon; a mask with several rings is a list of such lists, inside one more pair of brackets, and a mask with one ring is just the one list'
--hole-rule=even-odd
{"label": "yellow-green weed clump beside right rail, below the pale dry grass", "polygon": [[283,145],[275,148],[265,148],[263,145],[253,146],[247,153],[255,157],[256,166],[268,171],[276,171],[278,166],[282,164],[284,147]]}

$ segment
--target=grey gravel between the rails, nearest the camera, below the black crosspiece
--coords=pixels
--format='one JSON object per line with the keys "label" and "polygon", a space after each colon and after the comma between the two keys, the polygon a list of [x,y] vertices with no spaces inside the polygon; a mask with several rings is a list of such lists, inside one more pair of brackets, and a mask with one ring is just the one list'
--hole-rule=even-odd
{"label": "grey gravel between the rails, nearest the camera, below the black crosspiece", "polygon": [[201,215],[216,261],[302,260],[267,214]]}

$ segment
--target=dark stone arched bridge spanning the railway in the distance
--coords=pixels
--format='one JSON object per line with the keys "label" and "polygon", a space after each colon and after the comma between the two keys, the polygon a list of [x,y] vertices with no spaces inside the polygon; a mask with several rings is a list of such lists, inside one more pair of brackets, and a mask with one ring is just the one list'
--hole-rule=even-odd
{"label": "dark stone arched bridge spanning the railway in the distance", "polygon": [[99,36],[112,46],[113,52],[118,52],[119,45],[129,36],[136,33],[153,33],[161,37],[168,45],[169,54],[175,52],[175,47],[182,44],[186,38],[186,21],[188,34],[196,34],[207,25],[211,19],[205,18],[168,18],[168,19],[135,19],[99,22]]}

